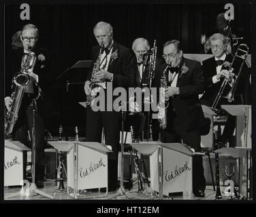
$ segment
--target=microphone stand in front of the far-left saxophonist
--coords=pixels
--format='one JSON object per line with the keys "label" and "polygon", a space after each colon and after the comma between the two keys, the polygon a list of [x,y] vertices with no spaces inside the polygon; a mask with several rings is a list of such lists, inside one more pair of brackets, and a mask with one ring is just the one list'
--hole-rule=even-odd
{"label": "microphone stand in front of the far-left saxophonist", "polygon": [[36,151],[36,147],[35,147],[35,112],[37,111],[37,104],[36,104],[35,99],[33,99],[32,105],[33,105],[33,127],[32,127],[32,160],[33,160],[33,163],[32,163],[32,183],[30,185],[29,192],[32,195],[38,194],[38,195],[42,195],[44,197],[48,197],[50,199],[54,199],[54,197],[52,195],[48,195],[48,194],[44,193],[43,191],[39,191],[35,184],[35,151]]}

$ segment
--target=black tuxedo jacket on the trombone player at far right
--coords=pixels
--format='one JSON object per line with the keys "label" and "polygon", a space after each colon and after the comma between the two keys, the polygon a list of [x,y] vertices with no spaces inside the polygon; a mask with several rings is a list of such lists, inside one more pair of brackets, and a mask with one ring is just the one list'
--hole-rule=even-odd
{"label": "black tuxedo jacket on the trombone player at far right", "polygon": [[[233,60],[233,57],[231,56],[231,54],[227,54],[224,61],[231,63],[232,60]],[[240,62],[234,62],[233,66],[234,66],[234,73],[237,75],[240,68]],[[223,78],[217,83],[212,83],[212,77],[214,75],[217,75],[216,62],[214,60],[214,56],[212,58],[208,58],[207,60],[204,60],[202,62],[202,68],[203,68],[206,82],[205,82],[205,92],[200,100],[202,104],[212,106],[214,99],[216,98],[221,88],[221,84],[223,83]],[[228,69],[228,67],[222,66],[221,70],[223,69]],[[247,68],[246,64],[244,63],[244,67],[242,68],[240,79],[238,80],[238,86],[236,87],[235,102],[234,102],[235,104],[250,104],[249,76],[250,76],[249,68]],[[227,94],[229,90],[230,90],[230,87],[229,85],[227,85],[227,88],[225,88],[223,95]],[[227,104],[227,100],[225,100],[225,98],[221,98],[219,104]]]}

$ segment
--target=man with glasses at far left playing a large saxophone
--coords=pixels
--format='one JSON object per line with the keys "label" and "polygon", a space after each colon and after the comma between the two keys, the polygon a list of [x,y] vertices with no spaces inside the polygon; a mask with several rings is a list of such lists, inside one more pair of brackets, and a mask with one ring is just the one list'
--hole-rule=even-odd
{"label": "man with glasses at far left playing a large saxophone", "polygon": [[[49,86],[51,75],[49,75],[48,53],[37,48],[39,34],[38,29],[33,24],[26,24],[22,27],[20,40],[22,49],[14,50],[7,58],[5,77],[5,106],[7,111],[13,108],[14,101],[11,96],[16,86],[20,84],[18,77],[22,74],[28,78],[25,91],[16,105],[18,109],[18,119],[14,123],[12,130],[13,140],[22,142],[32,148],[32,128],[33,128],[33,100],[36,99],[35,113],[35,184],[37,188],[44,187],[44,102],[42,95]],[[22,76],[21,76],[22,77]],[[15,81],[15,83],[12,82]],[[41,89],[42,88],[42,89]],[[42,92],[43,90],[43,92]],[[10,123],[8,123],[10,124]],[[27,161],[27,159],[25,159]]]}

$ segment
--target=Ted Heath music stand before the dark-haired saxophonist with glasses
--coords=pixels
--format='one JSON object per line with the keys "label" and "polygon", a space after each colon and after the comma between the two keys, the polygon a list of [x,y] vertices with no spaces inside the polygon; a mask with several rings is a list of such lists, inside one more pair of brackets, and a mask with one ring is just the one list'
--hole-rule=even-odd
{"label": "Ted Heath music stand before the dark-haired saxophonist with glasses", "polygon": [[[180,143],[161,142],[139,142],[132,143],[131,146],[144,155],[150,155],[151,191],[159,192],[159,199],[163,199],[163,193],[177,192],[174,191],[174,189],[182,190],[183,192],[192,192],[192,156],[194,153],[189,146]],[[165,172],[165,175],[167,175],[168,168],[175,167],[175,163],[167,162],[168,154],[173,156],[178,155],[175,163],[180,161],[180,159],[185,159],[187,161],[187,164],[185,163],[185,165],[187,165],[186,168],[190,169],[186,170],[187,172],[184,171],[185,173],[180,174],[180,176],[177,176],[178,178],[182,177],[183,181],[185,180],[185,182],[182,183],[183,185],[179,185],[175,178],[173,178],[174,182],[172,182],[172,180],[166,181],[166,179],[163,178]],[[165,170],[165,172],[163,172],[163,170]],[[172,184],[170,184],[169,181],[172,182],[174,187],[172,187]]]}

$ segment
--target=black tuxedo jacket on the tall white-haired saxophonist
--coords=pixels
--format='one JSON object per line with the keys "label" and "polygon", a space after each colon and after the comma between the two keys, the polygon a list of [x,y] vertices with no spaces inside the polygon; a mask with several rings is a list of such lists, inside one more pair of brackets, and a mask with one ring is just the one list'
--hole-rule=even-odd
{"label": "black tuxedo jacket on the tall white-haired saxophonist", "polygon": [[[99,56],[100,46],[97,45],[92,49],[92,65],[86,81],[91,79],[93,64]],[[112,56],[117,51],[117,56]],[[135,87],[135,60],[133,54],[127,47],[114,41],[110,62],[106,71],[113,73],[114,87]]]}

